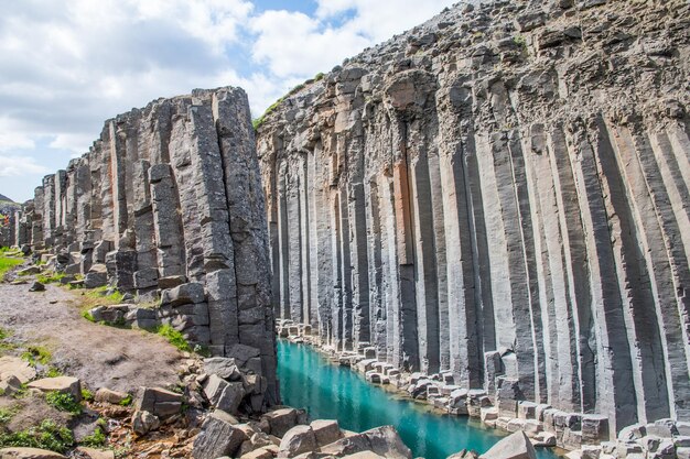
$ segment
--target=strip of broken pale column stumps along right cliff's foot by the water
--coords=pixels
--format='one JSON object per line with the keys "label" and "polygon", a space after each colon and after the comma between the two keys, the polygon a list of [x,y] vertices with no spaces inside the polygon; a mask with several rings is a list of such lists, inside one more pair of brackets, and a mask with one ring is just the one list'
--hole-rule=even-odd
{"label": "strip of broken pale column stumps along right cliff's foot by the water", "polygon": [[[279,320],[277,335],[292,342],[308,343],[333,364],[348,367],[371,383],[433,406],[439,413],[471,416],[492,428],[524,433],[533,447],[556,447],[568,458],[686,458],[690,453],[690,423],[660,419],[624,428],[610,440],[605,416],[568,413],[548,404],[520,398],[510,380],[499,379],[496,390],[467,389],[454,384],[450,372],[424,374],[401,371],[376,360],[371,347],[357,352],[338,352],[313,334],[310,326]],[[656,456],[655,456],[656,455]]]}

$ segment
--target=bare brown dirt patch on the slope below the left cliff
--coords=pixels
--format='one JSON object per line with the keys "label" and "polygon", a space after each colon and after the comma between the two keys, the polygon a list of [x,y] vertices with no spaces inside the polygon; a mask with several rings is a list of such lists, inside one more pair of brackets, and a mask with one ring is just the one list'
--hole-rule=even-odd
{"label": "bare brown dirt patch on the slope below the left cliff", "polygon": [[0,283],[0,327],[20,341],[51,349],[53,365],[93,390],[177,382],[183,359],[177,349],[150,332],[93,324],[82,317],[78,303],[78,293],[53,285],[29,292],[29,285]]}

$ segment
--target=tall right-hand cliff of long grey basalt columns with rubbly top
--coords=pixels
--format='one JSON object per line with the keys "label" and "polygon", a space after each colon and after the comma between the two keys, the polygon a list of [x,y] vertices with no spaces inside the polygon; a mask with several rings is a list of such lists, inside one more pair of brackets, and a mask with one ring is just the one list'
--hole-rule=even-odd
{"label": "tall right-hand cliff of long grey basalt columns with rubbly top", "polygon": [[502,413],[690,419],[688,31],[457,6],[308,81],[258,128],[276,315]]}

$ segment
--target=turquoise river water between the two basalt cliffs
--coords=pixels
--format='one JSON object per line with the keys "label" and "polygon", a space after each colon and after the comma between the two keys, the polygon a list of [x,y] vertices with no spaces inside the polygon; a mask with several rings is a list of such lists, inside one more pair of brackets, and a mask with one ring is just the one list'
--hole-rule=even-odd
{"label": "turquoise river water between the two basalt cliffs", "polygon": [[[359,373],[331,364],[306,345],[280,339],[278,358],[285,405],[306,408],[312,419],[337,419],[348,430],[393,425],[414,457],[442,459],[463,448],[485,452],[502,437],[466,416],[432,413],[427,405],[371,385]],[[558,458],[549,449],[538,449],[537,456]]]}

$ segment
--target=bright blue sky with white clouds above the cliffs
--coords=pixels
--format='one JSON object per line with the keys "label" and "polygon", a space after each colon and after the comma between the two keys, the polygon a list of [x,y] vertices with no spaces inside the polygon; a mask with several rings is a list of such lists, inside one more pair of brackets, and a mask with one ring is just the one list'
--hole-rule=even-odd
{"label": "bright blue sky with white clouds above the cliffs", "polygon": [[290,88],[456,0],[0,0],[0,194],[88,151],[159,97],[239,86],[256,118]]}

